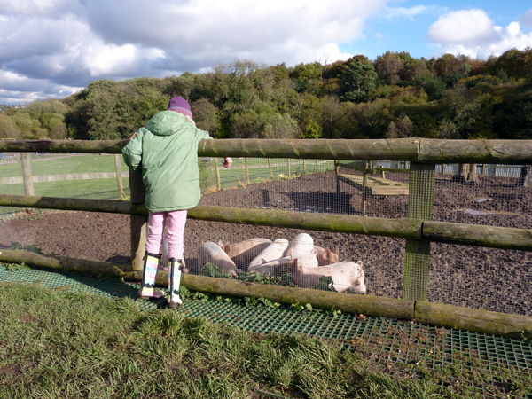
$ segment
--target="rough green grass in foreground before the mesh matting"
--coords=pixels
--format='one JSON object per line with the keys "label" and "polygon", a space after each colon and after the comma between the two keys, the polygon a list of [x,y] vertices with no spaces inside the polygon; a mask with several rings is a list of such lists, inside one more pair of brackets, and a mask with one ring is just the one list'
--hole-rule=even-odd
{"label": "rough green grass in foreground before the mesh matting", "polygon": [[[136,301],[0,284],[0,398],[451,398],[325,340],[140,312]],[[460,397],[467,397],[460,395]]]}

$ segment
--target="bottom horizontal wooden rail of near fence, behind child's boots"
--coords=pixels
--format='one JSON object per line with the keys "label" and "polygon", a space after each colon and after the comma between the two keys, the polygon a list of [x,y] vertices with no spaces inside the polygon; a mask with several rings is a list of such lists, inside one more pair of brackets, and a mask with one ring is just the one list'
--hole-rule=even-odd
{"label": "bottom horizontal wooden rail of near fence, behind child's boots", "polygon": [[[24,262],[27,265],[70,270],[90,275],[124,278],[141,281],[142,271],[123,271],[119,265],[107,262],[86,261],[35,254],[24,251],[0,249],[0,262]],[[279,303],[309,303],[316,309],[336,309],[345,313],[364,314],[374,317],[394,317],[415,320],[427,325],[496,334],[514,338],[532,338],[532,317],[511,315],[487,310],[461,308],[426,301],[403,301],[371,295],[332,293],[299,287],[274,286],[249,283],[227,278],[209,278],[184,274],[182,285],[202,293],[217,293],[239,297],[268,298]],[[167,286],[168,275],[157,274],[156,284]]]}

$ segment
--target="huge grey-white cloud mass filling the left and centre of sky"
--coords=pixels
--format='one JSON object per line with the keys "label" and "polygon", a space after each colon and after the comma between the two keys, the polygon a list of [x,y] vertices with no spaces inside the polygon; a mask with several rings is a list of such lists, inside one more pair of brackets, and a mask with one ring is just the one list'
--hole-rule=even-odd
{"label": "huge grey-white cloud mass filling the left and centre of sky", "polygon": [[291,66],[328,53],[333,62],[350,56],[338,43],[361,37],[365,20],[390,1],[0,0],[0,73],[48,82],[48,95],[234,59]]}

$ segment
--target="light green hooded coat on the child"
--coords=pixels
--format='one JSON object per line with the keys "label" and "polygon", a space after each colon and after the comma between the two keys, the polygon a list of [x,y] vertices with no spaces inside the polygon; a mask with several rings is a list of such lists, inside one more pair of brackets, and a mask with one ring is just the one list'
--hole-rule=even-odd
{"label": "light green hooded coat on the child", "polygon": [[198,144],[207,131],[182,113],[161,111],[122,149],[124,162],[139,175],[150,212],[190,209],[201,199]]}

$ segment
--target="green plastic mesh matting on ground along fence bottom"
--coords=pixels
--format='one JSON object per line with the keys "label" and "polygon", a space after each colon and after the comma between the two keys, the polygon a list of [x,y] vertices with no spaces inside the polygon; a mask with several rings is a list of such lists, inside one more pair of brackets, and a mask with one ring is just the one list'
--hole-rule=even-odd
{"label": "green plastic mesh matting on ground along fence bottom", "polygon": [[[78,273],[0,266],[0,281],[39,284],[61,291],[84,291],[110,298],[137,298],[138,286]],[[166,300],[138,300],[141,310],[166,306]],[[303,333],[330,340],[340,350],[357,352],[388,372],[434,372],[442,386],[469,387],[479,397],[532,398],[532,342],[464,332],[384,317],[336,315],[245,306],[231,301],[185,301],[176,309],[187,317],[206,317],[224,326],[268,334]]]}

